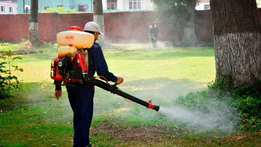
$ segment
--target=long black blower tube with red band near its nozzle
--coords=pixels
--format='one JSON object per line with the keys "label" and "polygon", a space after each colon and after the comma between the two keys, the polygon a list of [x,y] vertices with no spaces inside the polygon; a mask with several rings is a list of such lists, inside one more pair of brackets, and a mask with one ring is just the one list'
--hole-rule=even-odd
{"label": "long black blower tube with red band near its nozzle", "polygon": [[97,79],[94,79],[94,78],[89,78],[87,76],[87,72],[83,72],[82,73],[82,81],[84,81],[84,83],[86,84],[91,84],[91,85],[95,85],[95,86],[98,86],[106,91],[109,91],[113,94],[117,94],[117,95],[120,95],[121,97],[123,98],[126,98],[126,99],[129,99],[135,103],[138,103],[140,105],[143,105],[147,108],[151,108],[151,109],[154,109],[156,111],[159,111],[159,106],[156,106],[156,105],[153,105],[151,102],[146,102],[144,100],[141,100],[139,98],[136,98],[128,93],[125,93],[123,91],[120,91],[116,86],[113,86],[113,85],[109,85],[103,81],[100,81],[100,80],[97,80]]}

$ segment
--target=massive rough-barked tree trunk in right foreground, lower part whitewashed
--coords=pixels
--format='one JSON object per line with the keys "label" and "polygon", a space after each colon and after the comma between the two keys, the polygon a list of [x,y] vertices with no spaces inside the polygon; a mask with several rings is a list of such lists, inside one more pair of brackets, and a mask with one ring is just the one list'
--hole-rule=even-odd
{"label": "massive rough-barked tree trunk in right foreground, lower part whitewashed", "polygon": [[261,28],[256,0],[210,0],[210,9],[216,82],[225,77],[224,84],[239,86],[261,79]]}

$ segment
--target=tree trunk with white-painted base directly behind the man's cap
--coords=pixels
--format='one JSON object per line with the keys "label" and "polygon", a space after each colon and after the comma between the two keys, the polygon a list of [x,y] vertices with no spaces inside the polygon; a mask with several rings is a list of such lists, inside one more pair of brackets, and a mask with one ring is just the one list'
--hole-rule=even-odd
{"label": "tree trunk with white-painted base directly behind the man's cap", "polygon": [[[104,33],[102,0],[93,0],[93,21],[100,26],[100,31]],[[98,39],[100,40],[101,43],[103,43],[104,36],[99,35]]]}

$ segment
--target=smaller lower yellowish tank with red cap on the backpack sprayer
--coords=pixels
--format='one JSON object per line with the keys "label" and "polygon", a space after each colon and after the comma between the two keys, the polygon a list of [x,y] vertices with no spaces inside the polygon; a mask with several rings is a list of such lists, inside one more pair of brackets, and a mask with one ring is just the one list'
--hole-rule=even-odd
{"label": "smaller lower yellowish tank with red cap on the backpack sprayer", "polygon": [[60,46],[58,47],[58,56],[65,57],[67,55],[69,58],[75,57],[77,52],[77,48],[73,46],[73,44],[69,44],[69,46]]}

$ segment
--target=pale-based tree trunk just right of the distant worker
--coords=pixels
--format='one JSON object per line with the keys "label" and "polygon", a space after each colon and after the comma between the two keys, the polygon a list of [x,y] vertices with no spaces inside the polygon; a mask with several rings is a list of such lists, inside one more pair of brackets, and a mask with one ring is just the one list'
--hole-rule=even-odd
{"label": "pale-based tree trunk just right of the distant worker", "polygon": [[197,0],[190,0],[187,3],[187,15],[189,15],[189,21],[187,27],[184,28],[184,35],[182,39],[182,44],[195,44],[198,39],[195,35],[194,20],[195,20],[195,7]]}

